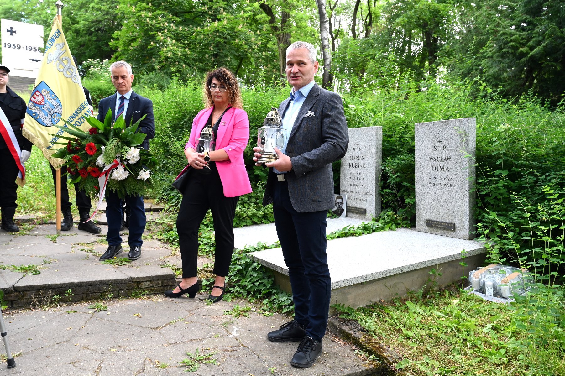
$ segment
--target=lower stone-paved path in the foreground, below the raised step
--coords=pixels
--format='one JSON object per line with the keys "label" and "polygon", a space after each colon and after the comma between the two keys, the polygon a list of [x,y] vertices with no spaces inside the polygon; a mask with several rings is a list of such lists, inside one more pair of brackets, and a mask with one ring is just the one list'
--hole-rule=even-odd
{"label": "lower stone-paved path in the foreground, below the raised step", "polygon": [[[202,296],[201,298],[205,298]],[[328,332],[323,355],[311,368],[296,369],[290,359],[298,343],[271,343],[266,332],[288,321],[259,309],[232,317],[246,301],[206,304],[200,299],[150,295],[93,303],[75,303],[47,311],[4,313],[16,368],[21,375],[180,375],[187,352],[210,355],[215,364],[197,362],[194,375],[375,375],[351,344]],[[195,366],[196,368],[196,366]],[[188,373],[190,374],[190,373]],[[380,374],[380,373],[379,373]]]}

